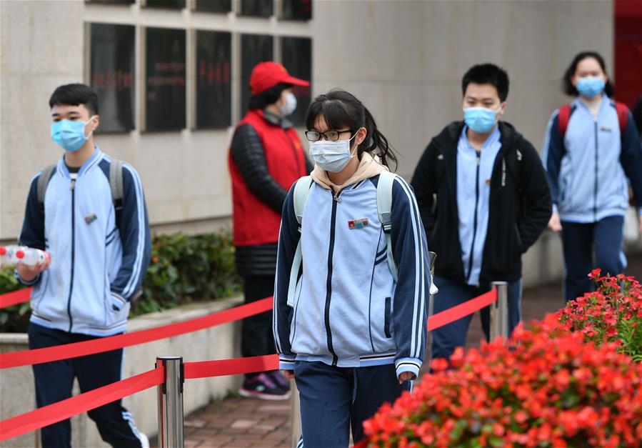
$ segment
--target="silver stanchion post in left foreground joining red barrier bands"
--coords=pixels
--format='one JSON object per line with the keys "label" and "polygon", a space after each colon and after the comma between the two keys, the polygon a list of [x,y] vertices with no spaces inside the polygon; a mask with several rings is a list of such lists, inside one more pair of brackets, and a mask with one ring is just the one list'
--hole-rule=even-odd
{"label": "silver stanchion post in left foreground joining red barrier bands", "polygon": [[184,448],[183,357],[156,357],[156,367],[165,367],[165,382],[159,394],[159,448]]}

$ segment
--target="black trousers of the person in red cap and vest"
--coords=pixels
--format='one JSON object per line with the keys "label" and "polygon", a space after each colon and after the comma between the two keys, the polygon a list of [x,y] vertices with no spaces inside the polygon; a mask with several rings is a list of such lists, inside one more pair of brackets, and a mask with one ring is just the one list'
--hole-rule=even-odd
{"label": "black trousers of the person in red cap and vest", "polygon": [[[245,303],[271,297],[274,294],[274,275],[243,277]],[[272,334],[272,312],[246,317],[241,324],[241,354],[259,357],[276,353]]]}

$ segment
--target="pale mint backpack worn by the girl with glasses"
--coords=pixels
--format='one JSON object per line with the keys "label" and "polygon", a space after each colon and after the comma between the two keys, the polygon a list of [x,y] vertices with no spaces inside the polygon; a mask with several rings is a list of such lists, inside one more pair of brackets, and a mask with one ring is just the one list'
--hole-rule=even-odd
{"label": "pale mint backpack worn by the girl with glasses", "polygon": [[[387,246],[387,259],[388,259],[388,269],[395,282],[397,282],[397,265],[394,261],[392,254],[392,239],[391,239],[391,230],[392,230],[392,186],[394,184],[394,179],[396,174],[391,173],[390,171],[381,171],[379,174],[379,181],[377,183],[377,214],[379,216],[379,221],[381,222],[381,227],[383,227],[383,233],[386,234],[386,246]],[[306,206],[306,201],[308,200],[308,194],[312,186],[312,176],[303,176],[301,179],[296,181],[294,185],[294,214],[296,215],[296,221],[299,223],[299,233],[301,233],[301,223],[303,222],[303,213]],[[434,252],[428,252],[428,262],[430,264],[431,270],[431,287],[430,294],[436,294],[437,288],[432,282],[432,271],[435,263],[436,254]],[[301,270],[301,238],[299,238],[299,243],[296,244],[296,252],[294,253],[294,260],[292,262],[292,267],[290,270],[290,282],[288,285],[288,304],[291,307],[294,307],[294,290],[296,289],[296,282],[299,279],[299,271]]]}

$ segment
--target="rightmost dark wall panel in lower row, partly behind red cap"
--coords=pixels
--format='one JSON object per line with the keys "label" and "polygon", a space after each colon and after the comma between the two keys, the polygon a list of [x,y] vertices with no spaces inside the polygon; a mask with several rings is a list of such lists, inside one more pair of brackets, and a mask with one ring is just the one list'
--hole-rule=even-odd
{"label": "rightmost dark wall panel in lower row, partly behind red cap", "polygon": [[[310,81],[312,79],[312,39],[307,37],[281,37],[281,61],[292,76]],[[289,117],[296,126],[306,121],[310,106],[311,86],[294,86],[296,110]]]}

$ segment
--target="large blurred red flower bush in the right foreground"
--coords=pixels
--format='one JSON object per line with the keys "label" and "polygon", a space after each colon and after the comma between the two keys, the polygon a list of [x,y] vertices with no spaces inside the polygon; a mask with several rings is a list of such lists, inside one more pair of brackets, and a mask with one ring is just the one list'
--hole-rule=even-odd
{"label": "large blurred red flower bush in the right foreground", "polygon": [[457,349],[364,423],[368,447],[640,447],[642,364],[550,315],[507,345]]}

